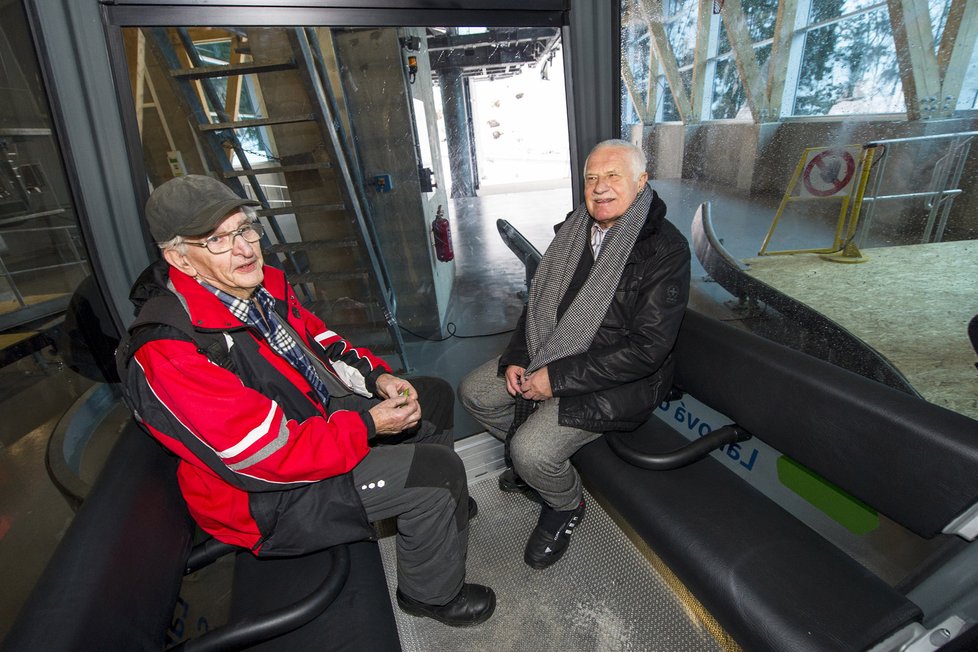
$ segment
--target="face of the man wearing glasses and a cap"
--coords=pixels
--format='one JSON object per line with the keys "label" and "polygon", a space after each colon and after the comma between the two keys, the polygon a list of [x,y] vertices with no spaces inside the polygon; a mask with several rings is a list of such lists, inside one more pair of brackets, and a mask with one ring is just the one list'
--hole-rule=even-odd
{"label": "face of the man wearing glasses and a cap", "polygon": [[[228,233],[250,222],[243,212],[231,213],[208,236]],[[203,242],[206,238],[188,238],[188,243]],[[222,254],[212,254],[204,247],[187,244],[184,253],[178,249],[167,249],[163,252],[167,262],[188,276],[207,281],[219,290],[239,299],[251,297],[255,288],[265,278],[264,259],[261,254],[261,244],[250,243],[243,237],[234,238],[234,246]]]}

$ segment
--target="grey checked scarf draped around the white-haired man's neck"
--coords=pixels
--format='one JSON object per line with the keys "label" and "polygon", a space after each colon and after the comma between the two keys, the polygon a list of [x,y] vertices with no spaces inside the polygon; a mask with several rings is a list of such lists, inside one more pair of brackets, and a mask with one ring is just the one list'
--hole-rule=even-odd
{"label": "grey checked scarf draped around the white-haired man's neck", "polygon": [[590,244],[593,220],[586,206],[578,206],[557,232],[530,283],[526,311],[526,345],[530,354],[527,373],[554,360],[582,353],[591,346],[614,299],[625,261],[648,217],[652,196],[652,189],[646,185],[608,230],[591,273],[559,322],[557,308],[570,287],[584,247]]}

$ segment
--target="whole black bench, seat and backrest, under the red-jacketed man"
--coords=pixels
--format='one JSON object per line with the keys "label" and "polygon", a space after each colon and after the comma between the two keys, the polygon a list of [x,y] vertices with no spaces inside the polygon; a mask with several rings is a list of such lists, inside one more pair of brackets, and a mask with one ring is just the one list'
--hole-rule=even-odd
{"label": "whole black bench, seat and backrest, under the red-jacketed man", "polygon": [[[0,649],[164,650],[194,533],[176,459],[130,422]],[[249,649],[400,650],[377,543],[345,548],[349,574],[326,610]],[[267,632],[269,621],[295,622],[295,605],[327,586],[333,570],[332,551],[274,560],[234,554],[229,627],[236,632],[253,631],[256,623]],[[258,620],[269,613],[275,617]],[[225,649],[215,648],[214,640],[203,634],[181,645]]]}

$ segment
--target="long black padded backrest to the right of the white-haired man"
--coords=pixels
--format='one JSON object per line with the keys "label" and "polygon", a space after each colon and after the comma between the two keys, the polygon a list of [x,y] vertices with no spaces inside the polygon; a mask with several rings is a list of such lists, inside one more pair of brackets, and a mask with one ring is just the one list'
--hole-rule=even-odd
{"label": "long black padded backrest to the right of the white-haired man", "polygon": [[930,538],[978,502],[978,421],[695,311],[676,384]]}

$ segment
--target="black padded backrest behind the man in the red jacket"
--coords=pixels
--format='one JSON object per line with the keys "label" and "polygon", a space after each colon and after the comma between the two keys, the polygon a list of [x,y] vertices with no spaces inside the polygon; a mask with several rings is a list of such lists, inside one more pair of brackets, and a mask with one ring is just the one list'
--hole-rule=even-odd
{"label": "black padded backrest behind the man in the red jacket", "polygon": [[130,422],[3,649],[162,649],[193,531],[176,459]]}

